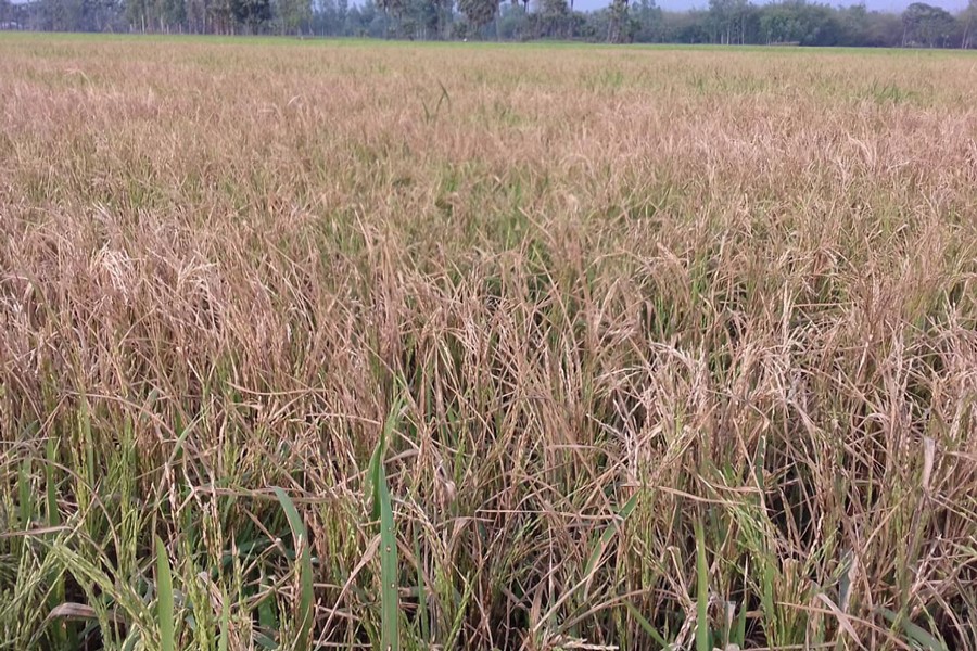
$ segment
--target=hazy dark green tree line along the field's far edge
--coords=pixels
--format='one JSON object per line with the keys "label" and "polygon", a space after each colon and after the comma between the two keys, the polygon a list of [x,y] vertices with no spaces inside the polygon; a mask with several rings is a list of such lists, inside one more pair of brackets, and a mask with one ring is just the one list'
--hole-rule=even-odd
{"label": "hazy dark green tree line along the field's far edge", "polygon": [[418,40],[574,39],[642,43],[977,47],[977,0],[952,14],[925,2],[901,14],[807,0],[0,0],[0,28],[59,31],[282,34]]}

